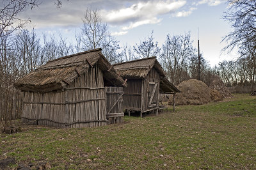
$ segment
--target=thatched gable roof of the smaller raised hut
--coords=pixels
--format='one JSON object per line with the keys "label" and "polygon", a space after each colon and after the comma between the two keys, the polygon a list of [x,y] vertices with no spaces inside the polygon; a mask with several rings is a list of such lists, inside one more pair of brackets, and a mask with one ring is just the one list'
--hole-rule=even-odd
{"label": "thatched gable roof of the smaller raised hut", "polygon": [[152,68],[155,68],[161,76],[165,76],[156,57],[118,63],[114,65],[114,68],[124,79],[145,79]]}

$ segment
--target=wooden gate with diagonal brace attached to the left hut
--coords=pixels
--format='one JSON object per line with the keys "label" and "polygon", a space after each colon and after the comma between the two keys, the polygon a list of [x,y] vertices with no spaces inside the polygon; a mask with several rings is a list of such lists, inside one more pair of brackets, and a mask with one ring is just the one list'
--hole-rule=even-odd
{"label": "wooden gate with diagonal brace attached to the left hut", "polygon": [[[107,94],[107,119],[108,124],[123,123],[124,112],[123,112],[123,94],[124,90],[122,87],[106,87]],[[117,103],[116,103],[117,102]],[[116,104],[114,107],[113,105]],[[113,109],[111,109],[113,107]],[[111,111],[109,111],[111,109]]]}

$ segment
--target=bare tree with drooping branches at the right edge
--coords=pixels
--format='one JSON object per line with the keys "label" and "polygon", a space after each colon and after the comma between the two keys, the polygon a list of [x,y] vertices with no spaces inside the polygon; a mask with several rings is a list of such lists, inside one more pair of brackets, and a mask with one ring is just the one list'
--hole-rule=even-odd
{"label": "bare tree with drooping branches at the right edge", "polygon": [[[252,89],[254,91],[255,85],[255,49],[256,49],[256,1],[248,0],[228,0],[228,11],[225,13],[223,19],[227,20],[232,27],[232,31],[228,33],[223,41],[228,45],[223,49],[231,52],[234,48],[243,51],[244,48],[248,50],[252,56]],[[241,58],[246,57],[241,54]]]}

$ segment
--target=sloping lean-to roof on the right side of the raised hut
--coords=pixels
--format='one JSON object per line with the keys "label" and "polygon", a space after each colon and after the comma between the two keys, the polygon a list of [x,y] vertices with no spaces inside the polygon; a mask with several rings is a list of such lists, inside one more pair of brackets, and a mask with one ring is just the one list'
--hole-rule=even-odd
{"label": "sloping lean-to roof on the right side of the raised hut", "polygon": [[161,77],[160,79],[160,86],[159,86],[160,93],[180,93],[180,90],[176,88],[172,82],[168,81],[165,77]]}

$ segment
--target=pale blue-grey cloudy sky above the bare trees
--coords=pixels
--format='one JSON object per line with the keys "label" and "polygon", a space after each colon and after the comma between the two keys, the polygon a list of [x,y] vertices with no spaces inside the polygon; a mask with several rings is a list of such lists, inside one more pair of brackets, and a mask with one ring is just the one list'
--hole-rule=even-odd
{"label": "pale blue-grey cloudy sky above the bare trees", "polygon": [[191,32],[197,47],[199,27],[200,52],[211,66],[223,59],[236,58],[236,53],[221,54],[226,45],[223,36],[231,31],[221,19],[227,10],[223,0],[62,0],[60,9],[54,0],[44,0],[38,8],[27,10],[22,15],[31,19],[31,26],[39,33],[59,34],[72,42],[78,32],[86,8],[99,10],[102,20],[109,26],[111,35],[120,45],[140,43],[154,30],[154,37],[161,46],[166,35],[184,35]]}

